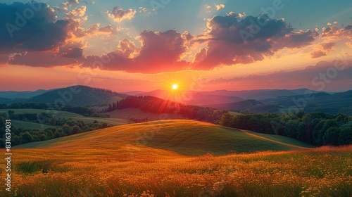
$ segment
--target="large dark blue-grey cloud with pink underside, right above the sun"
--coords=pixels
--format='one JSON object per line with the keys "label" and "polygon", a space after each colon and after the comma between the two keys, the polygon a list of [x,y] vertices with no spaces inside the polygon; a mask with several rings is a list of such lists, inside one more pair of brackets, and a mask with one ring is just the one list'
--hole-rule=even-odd
{"label": "large dark blue-grey cloud with pink underside, right above the sun", "polygon": [[215,16],[208,20],[207,26],[210,29],[206,34],[208,39],[199,40],[208,44],[206,57],[192,67],[195,70],[262,61],[279,49],[305,46],[314,40],[313,32],[293,32],[284,20],[270,19],[266,15]]}

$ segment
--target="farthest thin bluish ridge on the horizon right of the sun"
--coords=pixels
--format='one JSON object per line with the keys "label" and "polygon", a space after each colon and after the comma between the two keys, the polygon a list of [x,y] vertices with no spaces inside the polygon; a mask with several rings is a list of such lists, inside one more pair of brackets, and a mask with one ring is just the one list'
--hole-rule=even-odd
{"label": "farthest thin bluish ridge on the horizon right of the sun", "polygon": [[[222,95],[222,96],[237,96],[244,99],[262,100],[266,98],[277,98],[279,96],[296,96],[305,94],[308,89],[255,89],[255,90],[242,90],[242,91],[228,91],[228,90],[215,90],[215,91],[200,91],[204,95]],[[318,93],[319,91],[311,91]]]}

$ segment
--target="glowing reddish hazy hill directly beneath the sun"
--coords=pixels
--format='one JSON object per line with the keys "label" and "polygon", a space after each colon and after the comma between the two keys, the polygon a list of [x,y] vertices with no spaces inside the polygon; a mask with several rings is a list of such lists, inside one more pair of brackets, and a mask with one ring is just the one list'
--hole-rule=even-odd
{"label": "glowing reddish hazy hill directly beneath the sun", "polygon": [[144,92],[142,94],[137,94],[137,96],[146,95],[146,96],[156,96],[158,98],[168,99],[172,101],[177,101],[192,106],[204,106],[209,104],[218,104],[218,103],[232,103],[243,101],[243,98],[237,96],[225,96],[217,94],[201,94],[196,91],[182,91],[182,92],[170,92],[164,90],[154,90]]}

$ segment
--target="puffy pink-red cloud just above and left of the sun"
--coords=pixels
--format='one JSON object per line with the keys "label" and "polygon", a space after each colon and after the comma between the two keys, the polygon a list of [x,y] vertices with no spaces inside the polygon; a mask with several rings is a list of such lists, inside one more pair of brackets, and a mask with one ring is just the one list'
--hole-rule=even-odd
{"label": "puffy pink-red cloud just above and left of the sun", "polygon": [[140,49],[132,41],[124,39],[117,51],[101,57],[88,56],[82,62],[82,66],[142,73],[174,72],[189,66],[189,63],[180,61],[186,47],[185,40],[179,32],[145,30],[139,37],[142,42]]}

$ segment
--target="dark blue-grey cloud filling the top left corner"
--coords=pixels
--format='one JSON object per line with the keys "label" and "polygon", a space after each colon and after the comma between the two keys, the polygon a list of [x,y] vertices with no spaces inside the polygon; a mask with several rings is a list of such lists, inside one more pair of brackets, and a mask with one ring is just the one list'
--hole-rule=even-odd
{"label": "dark blue-grey cloud filling the top left corner", "polygon": [[[25,9],[32,9],[32,18],[23,18],[20,13]],[[46,4],[0,4],[0,13],[0,26],[5,27],[0,28],[0,53],[51,50],[68,38],[68,21],[57,20],[54,9]]]}

